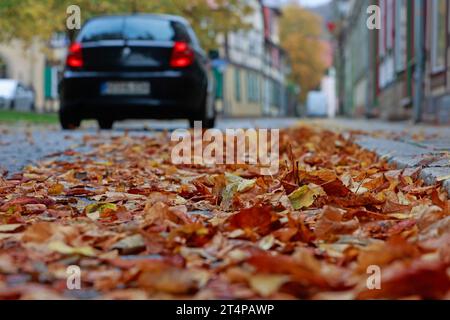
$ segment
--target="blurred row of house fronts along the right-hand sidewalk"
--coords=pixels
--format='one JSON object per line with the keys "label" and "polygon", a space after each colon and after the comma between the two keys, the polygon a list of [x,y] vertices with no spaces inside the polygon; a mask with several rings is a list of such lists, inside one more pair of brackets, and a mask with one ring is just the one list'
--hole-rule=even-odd
{"label": "blurred row of house fronts along the right-hand sidewalk", "polygon": [[333,5],[340,15],[335,60],[340,112],[449,124],[450,1]]}

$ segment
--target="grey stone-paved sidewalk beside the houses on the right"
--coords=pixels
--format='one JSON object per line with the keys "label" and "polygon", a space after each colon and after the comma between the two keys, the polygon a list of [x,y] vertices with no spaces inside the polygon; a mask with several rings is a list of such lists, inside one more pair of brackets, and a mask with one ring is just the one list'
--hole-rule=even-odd
{"label": "grey stone-paved sidewalk beside the houses on the right", "polygon": [[450,195],[450,127],[370,120],[318,120],[331,129],[361,130],[356,142],[399,168],[419,168],[428,184],[442,182]]}

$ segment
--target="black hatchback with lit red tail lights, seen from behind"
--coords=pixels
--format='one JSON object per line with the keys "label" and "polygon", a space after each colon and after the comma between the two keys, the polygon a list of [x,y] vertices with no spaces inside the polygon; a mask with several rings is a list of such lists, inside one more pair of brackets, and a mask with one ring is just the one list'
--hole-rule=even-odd
{"label": "black hatchback with lit red tail lights, seen from behind", "polygon": [[188,119],[214,126],[209,59],[189,23],[176,16],[102,16],[86,22],[67,56],[60,122]]}

